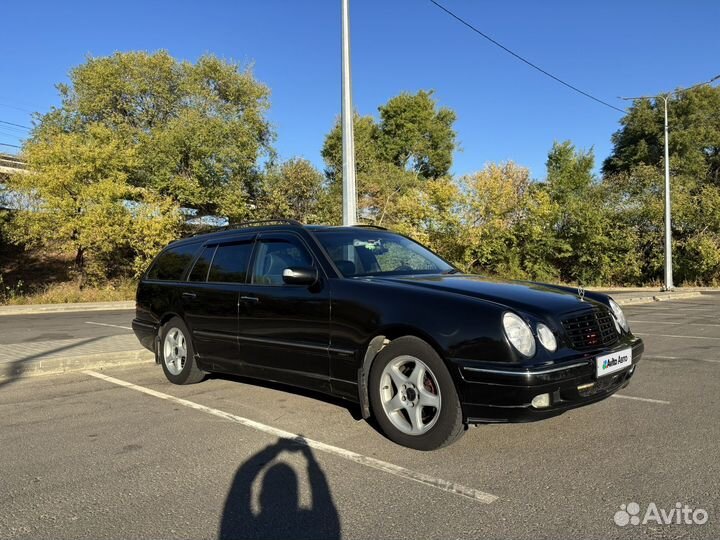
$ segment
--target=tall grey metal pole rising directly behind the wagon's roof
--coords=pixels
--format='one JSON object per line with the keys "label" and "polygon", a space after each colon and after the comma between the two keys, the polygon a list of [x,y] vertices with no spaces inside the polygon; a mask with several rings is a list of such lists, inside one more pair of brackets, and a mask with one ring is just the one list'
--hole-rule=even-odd
{"label": "tall grey metal pole rising directly behind the wagon's roof", "polygon": [[357,222],[355,194],[355,141],[353,137],[352,87],[350,82],[350,0],[342,1],[342,135],[343,225]]}

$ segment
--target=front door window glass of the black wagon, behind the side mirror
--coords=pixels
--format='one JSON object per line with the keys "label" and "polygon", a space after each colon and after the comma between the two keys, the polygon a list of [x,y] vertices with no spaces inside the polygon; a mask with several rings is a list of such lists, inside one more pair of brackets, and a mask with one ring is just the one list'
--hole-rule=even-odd
{"label": "front door window glass of the black wagon, behind the side mirror", "polygon": [[283,285],[282,272],[290,266],[313,266],[313,258],[296,238],[262,238],[258,241],[252,282]]}

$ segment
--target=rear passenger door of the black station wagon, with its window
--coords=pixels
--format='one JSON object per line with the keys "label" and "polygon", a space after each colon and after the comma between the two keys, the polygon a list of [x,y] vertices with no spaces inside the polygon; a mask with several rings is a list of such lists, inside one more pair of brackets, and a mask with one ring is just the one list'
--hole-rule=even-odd
{"label": "rear passenger door of the black station wagon, with its window", "polygon": [[203,246],[182,294],[185,321],[201,365],[239,372],[238,301],[245,291],[254,235]]}

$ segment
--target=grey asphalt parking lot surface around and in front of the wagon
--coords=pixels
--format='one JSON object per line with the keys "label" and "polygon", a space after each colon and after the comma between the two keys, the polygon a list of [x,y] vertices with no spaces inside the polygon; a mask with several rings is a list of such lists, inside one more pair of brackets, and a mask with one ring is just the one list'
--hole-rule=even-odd
{"label": "grey asphalt parking lot surface around and in front of the wagon", "polygon": [[[178,387],[154,365],[21,379],[0,388],[0,537],[718,538],[720,298],[625,311],[646,357],[623,397],[471,428],[431,453],[343,402],[273,385]],[[52,332],[129,317],[56,315]],[[12,324],[24,339],[51,331]],[[617,525],[630,503],[641,520],[651,503],[708,519]]]}

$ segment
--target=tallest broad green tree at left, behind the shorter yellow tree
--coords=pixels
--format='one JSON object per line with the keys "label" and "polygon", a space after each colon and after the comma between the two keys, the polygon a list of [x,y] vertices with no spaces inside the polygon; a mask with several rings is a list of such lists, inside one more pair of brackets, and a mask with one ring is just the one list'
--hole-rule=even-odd
{"label": "tallest broad green tree at left, behind the shorter yellow tree", "polygon": [[191,64],[165,51],[116,53],[89,58],[58,89],[61,106],[39,117],[34,141],[102,125],[134,150],[132,186],[201,214],[237,203],[238,189],[246,204],[256,196],[273,135],[269,90],[249,70],[211,55]]}

